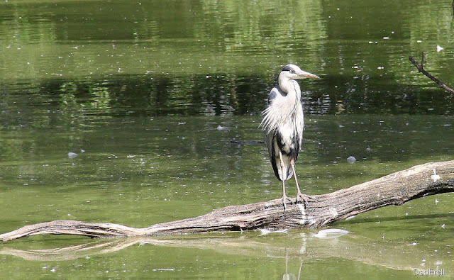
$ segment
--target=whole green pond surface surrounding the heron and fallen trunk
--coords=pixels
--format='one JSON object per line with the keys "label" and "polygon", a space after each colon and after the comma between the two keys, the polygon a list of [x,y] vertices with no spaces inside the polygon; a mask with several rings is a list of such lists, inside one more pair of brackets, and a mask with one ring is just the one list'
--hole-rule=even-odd
{"label": "whole green pond surface surrounding the heron and fallen trunk", "polygon": [[[344,2],[1,2],[0,233],[62,219],[145,227],[279,198],[258,125],[289,62],[321,77],[300,83],[305,193],[454,159],[453,96],[408,60],[426,52],[426,69],[454,86],[451,3]],[[353,233],[332,239],[316,230],[26,237],[0,244],[0,273],[453,277],[453,199],[357,215],[331,226]]]}

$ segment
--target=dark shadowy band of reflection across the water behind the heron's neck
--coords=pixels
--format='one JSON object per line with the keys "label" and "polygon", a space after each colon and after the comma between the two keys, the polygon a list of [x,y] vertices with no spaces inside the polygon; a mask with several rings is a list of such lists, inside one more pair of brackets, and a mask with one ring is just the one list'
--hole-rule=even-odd
{"label": "dark shadowy band of reflection across the water behind the heron's neck", "polygon": [[[384,81],[381,85],[380,81],[361,79],[346,81],[340,77],[323,79],[323,82],[301,83],[306,113],[453,113],[450,95],[437,89],[421,91],[416,86],[384,84]],[[255,115],[265,108],[267,93],[274,85],[274,77],[232,74],[46,79],[4,86],[0,108],[9,118],[22,106],[25,106],[22,118],[33,111],[37,113],[40,108],[105,116]]]}

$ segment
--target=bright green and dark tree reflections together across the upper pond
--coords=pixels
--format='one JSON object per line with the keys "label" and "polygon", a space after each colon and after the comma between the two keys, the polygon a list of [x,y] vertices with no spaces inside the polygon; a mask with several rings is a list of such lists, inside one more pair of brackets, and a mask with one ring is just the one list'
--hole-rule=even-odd
{"label": "bright green and dark tree reflections together across the upper pond", "polygon": [[[6,2],[0,90],[6,100],[33,93],[107,115],[246,115],[262,111],[279,68],[294,62],[322,77],[301,84],[308,113],[452,114],[453,96],[419,77],[407,59],[426,50],[431,72],[452,84],[452,53],[436,52],[454,38],[451,7],[377,5]],[[427,21],[426,29],[402,6]],[[430,30],[443,32],[433,37]]]}

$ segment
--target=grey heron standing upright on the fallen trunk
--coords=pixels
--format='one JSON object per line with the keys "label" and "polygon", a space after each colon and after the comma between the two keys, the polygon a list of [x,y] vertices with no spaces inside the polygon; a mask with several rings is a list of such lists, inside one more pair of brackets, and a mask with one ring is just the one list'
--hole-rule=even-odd
{"label": "grey heron standing upright on the fallen trunk", "polygon": [[272,169],[279,181],[282,181],[282,203],[286,209],[287,195],[285,181],[295,179],[297,185],[297,203],[301,198],[304,206],[306,201],[301,194],[295,172],[295,162],[303,141],[304,114],[301,104],[301,89],[295,79],[318,76],[301,70],[297,65],[285,65],[279,73],[278,82],[268,95],[268,106],[262,112],[260,124],[265,130],[268,155]]}

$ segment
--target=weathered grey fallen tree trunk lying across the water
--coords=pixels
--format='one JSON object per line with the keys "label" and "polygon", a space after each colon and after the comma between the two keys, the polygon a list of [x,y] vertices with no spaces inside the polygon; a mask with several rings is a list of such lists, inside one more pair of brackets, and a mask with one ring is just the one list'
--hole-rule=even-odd
{"label": "weathered grey fallen tree trunk lying across the water", "polygon": [[454,191],[454,160],[429,162],[330,194],[309,196],[302,203],[287,204],[282,199],[227,206],[195,218],[129,228],[114,223],[84,223],[55,220],[26,225],[0,235],[9,241],[30,235],[84,235],[89,237],[131,237],[173,235],[214,231],[253,230],[258,228],[319,228],[351,215],[384,206],[399,206],[412,199]]}

